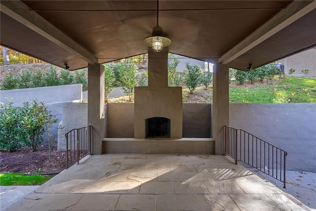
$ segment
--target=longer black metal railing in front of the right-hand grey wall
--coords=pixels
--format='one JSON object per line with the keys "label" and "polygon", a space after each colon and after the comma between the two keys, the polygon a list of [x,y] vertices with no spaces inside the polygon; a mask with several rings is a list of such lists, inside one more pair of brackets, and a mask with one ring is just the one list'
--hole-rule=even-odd
{"label": "longer black metal railing in front of the right-hand grey wall", "polygon": [[234,127],[224,126],[225,154],[258,169],[284,183],[285,188],[285,159],[287,152]]}

